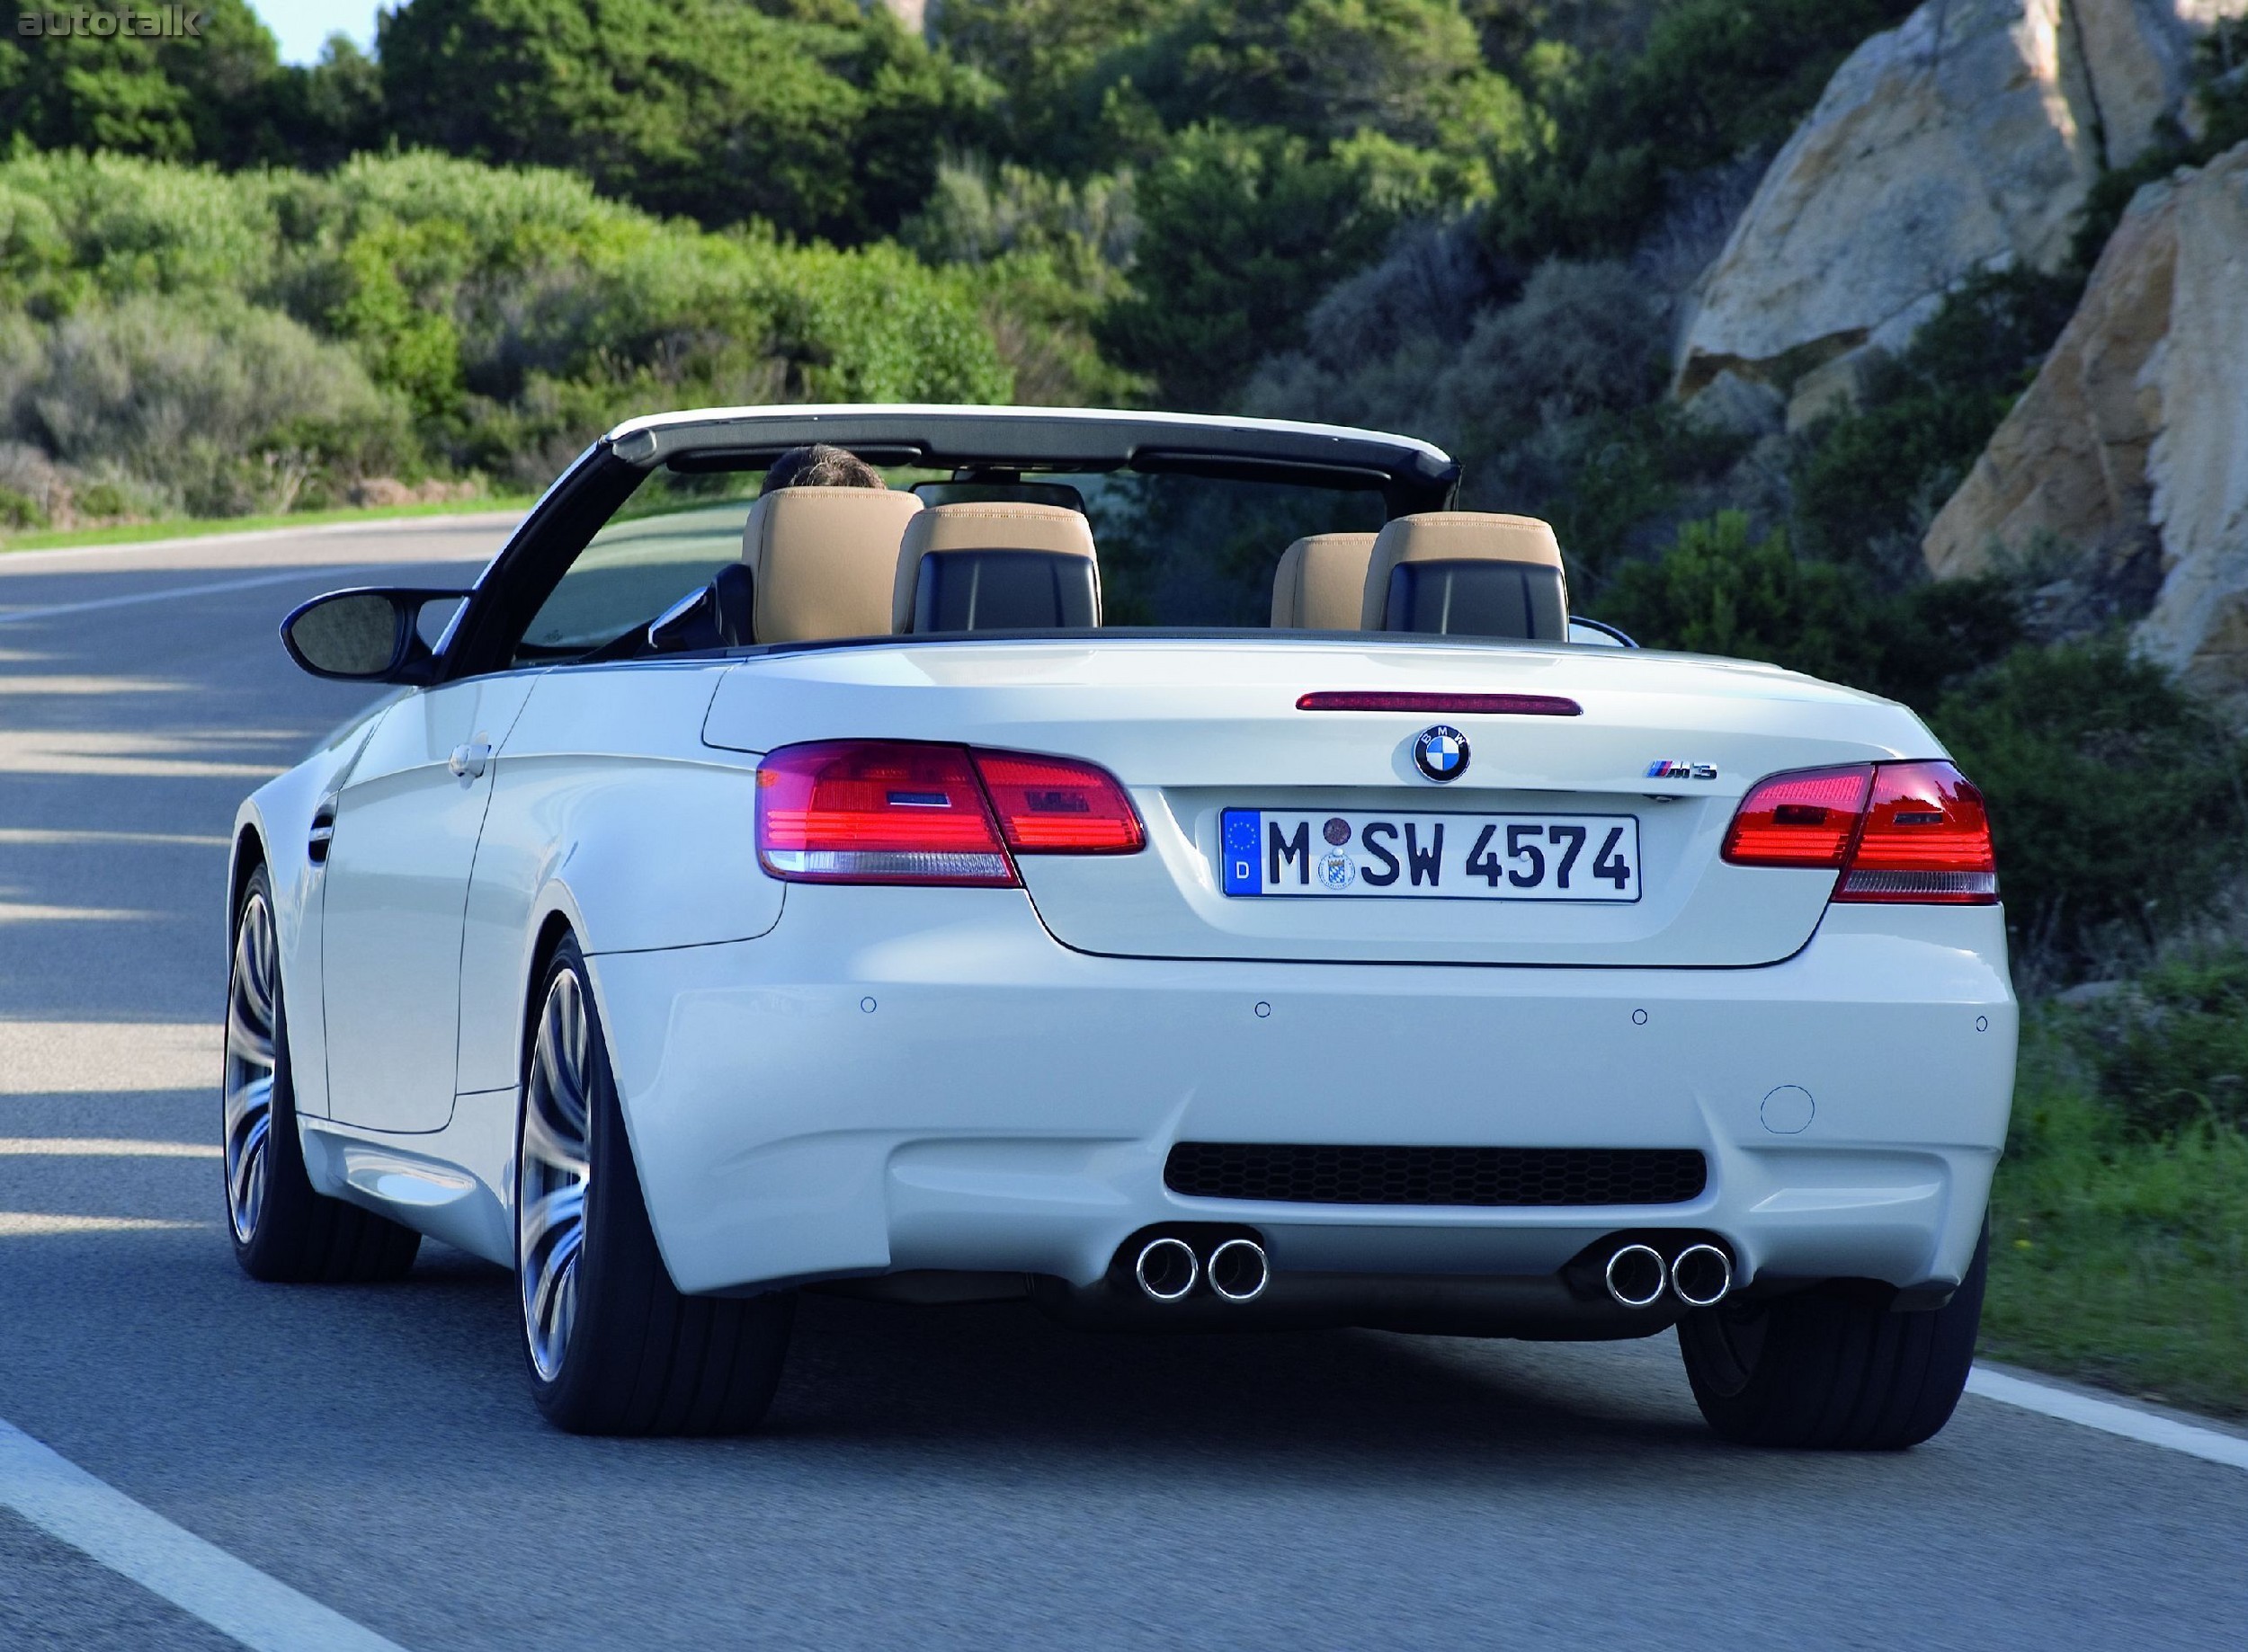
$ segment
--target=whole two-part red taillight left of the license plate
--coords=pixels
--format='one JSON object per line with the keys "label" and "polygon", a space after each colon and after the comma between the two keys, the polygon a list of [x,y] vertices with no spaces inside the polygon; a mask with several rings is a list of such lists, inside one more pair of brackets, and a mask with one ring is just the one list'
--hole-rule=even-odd
{"label": "whole two-part red taillight left of the license plate", "polygon": [[758,764],[758,863],[791,883],[1012,888],[1014,854],[1144,843],[1115,775],[1068,757],[821,739]]}

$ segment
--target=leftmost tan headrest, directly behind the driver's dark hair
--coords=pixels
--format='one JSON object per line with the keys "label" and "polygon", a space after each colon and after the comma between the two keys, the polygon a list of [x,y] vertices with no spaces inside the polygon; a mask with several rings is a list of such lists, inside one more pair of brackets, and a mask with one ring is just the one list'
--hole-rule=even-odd
{"label": "leftmost tan headrest, directly behind the driver's dark hair", "polygon": [[758,578],[760,643],[883,636],[897,539],[922,501],[890,488],[778,488],[749,510],[742,562]]}

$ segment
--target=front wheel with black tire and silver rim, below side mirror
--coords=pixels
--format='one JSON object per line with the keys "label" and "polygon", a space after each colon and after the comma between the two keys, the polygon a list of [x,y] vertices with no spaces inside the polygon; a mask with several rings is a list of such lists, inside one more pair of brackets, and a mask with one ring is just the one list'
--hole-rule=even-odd
{"label": "front wheel with black tire and silver rim, below side mirror", "polygon": [[[272,879],[261,865],[243,881],[234,908],[234,962],[227,969],[227,1072],[218,1128],[234,1261],[252,1279],[290,1286],[402,1279],[414,1268],[420,1234],[312,1191],[306,1176],[288,1056],[288,1005],[272,948]],[[259,1128],[256,1079],[268,1070],[272,1086]]]}

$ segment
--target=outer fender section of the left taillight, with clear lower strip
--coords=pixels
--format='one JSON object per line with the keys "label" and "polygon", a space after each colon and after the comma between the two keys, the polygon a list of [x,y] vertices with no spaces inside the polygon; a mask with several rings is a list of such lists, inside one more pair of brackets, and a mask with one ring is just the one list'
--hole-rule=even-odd
{"label": "outer fender section of the left taillight, with clear lower strip", "polygon": [[769,753],[758,863],[791,883],[1016,881],[967,748],[892,739]]}

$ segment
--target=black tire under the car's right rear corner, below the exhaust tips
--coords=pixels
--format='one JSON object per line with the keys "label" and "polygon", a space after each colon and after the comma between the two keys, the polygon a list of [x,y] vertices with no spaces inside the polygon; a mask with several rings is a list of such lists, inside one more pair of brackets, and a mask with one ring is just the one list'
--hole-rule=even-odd
{"label": "black tire under the car's right rear corner, below the exhaust tips", "polygon": [[1989,1220],[1960,1288],[1931,1313],[1891,1313],[1837,1290],[1688,1313],[1679,1351],[1695,1405],[1738,1445],[1920,1445],[1967,1387],[1987,1270]]}

